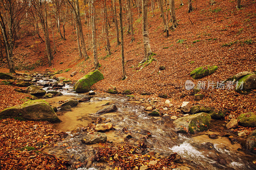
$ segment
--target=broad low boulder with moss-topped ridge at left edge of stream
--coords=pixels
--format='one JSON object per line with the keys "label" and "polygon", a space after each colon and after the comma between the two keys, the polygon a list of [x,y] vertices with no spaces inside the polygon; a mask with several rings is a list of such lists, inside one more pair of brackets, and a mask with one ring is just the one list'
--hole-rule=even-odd
{"label": "broad low boulder with moss-topped ridge at left edge of stream", "polygon": [[22,117],[31,121],[61,122],[52,107],[44,100],[31,100],[0,112],[0,117]]}

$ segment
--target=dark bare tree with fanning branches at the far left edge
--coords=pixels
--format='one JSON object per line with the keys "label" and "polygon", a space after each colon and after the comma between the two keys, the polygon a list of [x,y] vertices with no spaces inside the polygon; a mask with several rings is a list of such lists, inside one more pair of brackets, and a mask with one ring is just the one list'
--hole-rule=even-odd
{"label": "dark bare tree with fanning branches at the far left edge", "polygon": [[[16,41],[16,35],[20,30],[20,22],[28,11],[28,1],[0,1],[0,28],[4,39],[4,48],[6,59],[9,66],[10,73],[15,73],[13,63],[13,47]],[[2,13],[3,12],[3,13]],[[5,17],[4,17],[5,16]]]}

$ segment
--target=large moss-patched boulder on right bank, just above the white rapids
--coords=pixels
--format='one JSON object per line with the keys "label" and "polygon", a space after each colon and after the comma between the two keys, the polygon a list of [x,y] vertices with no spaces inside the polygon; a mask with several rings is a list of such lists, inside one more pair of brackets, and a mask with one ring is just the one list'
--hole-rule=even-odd
{"label": "large moss-patched boulder on right bank, just above the white rapids", "polygon": [[188,115],[180,117],[173,121],[174,128],[180,133],[202,132],[207,130],[211,121],[211,116],[207,113],[197,113],[194,115]]}

